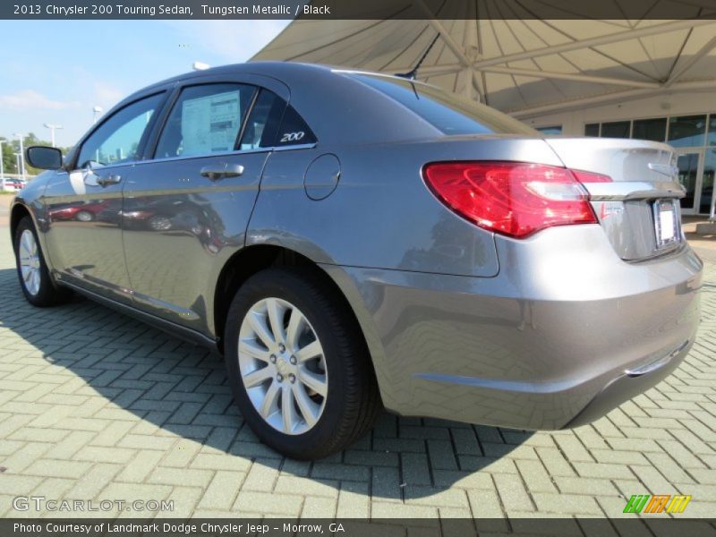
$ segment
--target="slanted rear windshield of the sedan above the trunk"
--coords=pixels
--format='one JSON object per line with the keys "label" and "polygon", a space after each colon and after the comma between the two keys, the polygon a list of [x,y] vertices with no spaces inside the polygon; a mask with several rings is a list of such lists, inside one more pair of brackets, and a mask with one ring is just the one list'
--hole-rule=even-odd
{"label": "slanted rear windshield of the sedan above the trunk", "polygon": [[526,134],[539,132],[494,108],[459,98],[434,86],[371,74],[354,78],[395,99],[444,134]]}

